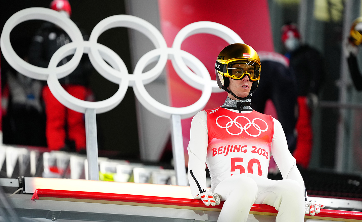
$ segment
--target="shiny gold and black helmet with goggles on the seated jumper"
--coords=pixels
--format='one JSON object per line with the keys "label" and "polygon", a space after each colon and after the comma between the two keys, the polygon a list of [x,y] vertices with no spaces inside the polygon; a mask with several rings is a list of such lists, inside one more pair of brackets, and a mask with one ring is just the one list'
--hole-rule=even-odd
{"label": "shiny gold and black helmet with goggles on the seated jumper", "polygon": [[[225,47],[219,54],[215,63],[216,81],[220,89],[223,89],[237,99],[247,99],[256,91],[260,80],[260,59],[256,51],[247,44],[235,43]],[[237,97],[227,87],[229,78],[240,80],[248,75],[253,81],[248,97]]]}

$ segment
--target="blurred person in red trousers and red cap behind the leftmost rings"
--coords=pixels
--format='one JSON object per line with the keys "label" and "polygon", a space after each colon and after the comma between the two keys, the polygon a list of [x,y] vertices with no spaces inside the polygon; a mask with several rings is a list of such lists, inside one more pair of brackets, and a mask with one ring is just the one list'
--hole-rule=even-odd
{"label": "blurred person in red trousers and red cap behind the leftmost rings", "polygon": [[[68,0],[53,0],[50,8],[70,18],[71,6]],[[84,40],[88,36],[81,30]],[[68,34],[60,27],[45,22],[37,30],[29,51],[29,62],[39,67],[48,67],[49,61],[58,48],[70,43]],[[71,56],[61,60],[58,66],[67,63]],[[63,88],[72,96],[86,100],[90,94],[88,85],[88,75],[92,69],[87,56],[83,58],[78,67],[68,76],[59,80]],[[42,96],[45,103],[46,113],[46,138],[50,150],[64,150],[85,153],[85,123],[84,114],[70,110],[63,106],[52,95],[48,86],[44,86]],[[66,124],[67,123],[67,124]],[[67,132],[67,133],[66,133]]]}

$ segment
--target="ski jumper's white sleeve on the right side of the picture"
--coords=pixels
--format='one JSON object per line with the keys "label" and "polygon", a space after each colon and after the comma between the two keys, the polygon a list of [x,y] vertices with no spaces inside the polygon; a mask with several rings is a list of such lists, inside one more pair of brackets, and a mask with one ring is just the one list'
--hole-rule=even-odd
{"label": "ski jumper's white sleeve on the right side of the picture", "polygon": [[278,120],[274,119],[274,135],[271,141],[271,154],[277,163],[283,179],[292,179],[304,187],[304,181],[298,168],[296,161],[290,153],[287,145],[287,140],[284,135],[282,125]]}

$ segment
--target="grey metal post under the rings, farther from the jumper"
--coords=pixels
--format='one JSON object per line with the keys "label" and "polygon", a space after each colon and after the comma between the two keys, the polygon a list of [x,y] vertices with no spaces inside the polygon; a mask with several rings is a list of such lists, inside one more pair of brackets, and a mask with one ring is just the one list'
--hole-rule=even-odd
{"label": "grey metal post under the rings, farther from the jumper", "polygon": [[98,180],[98,141],[96,110],[85,110],[85,136],[87,138],[88,179]]}

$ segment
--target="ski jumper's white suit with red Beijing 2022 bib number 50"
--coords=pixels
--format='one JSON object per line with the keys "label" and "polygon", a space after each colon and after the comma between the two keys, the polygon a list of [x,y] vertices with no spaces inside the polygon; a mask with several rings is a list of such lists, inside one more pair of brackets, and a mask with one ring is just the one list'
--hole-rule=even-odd
{"label": "ski jumper's white suit with red Beijing 2022 bib number 50", "polygon": [[[225,201],[219,222],[247,221],[254,203],[274,206],[278,222],[304,221],[303,178],[273,117],[222,107],[200,111],[191,121],[188,152],[192,195],[206,190],[206,163],[210,191]],[[267,178],[271,155],[283,180]]]}

